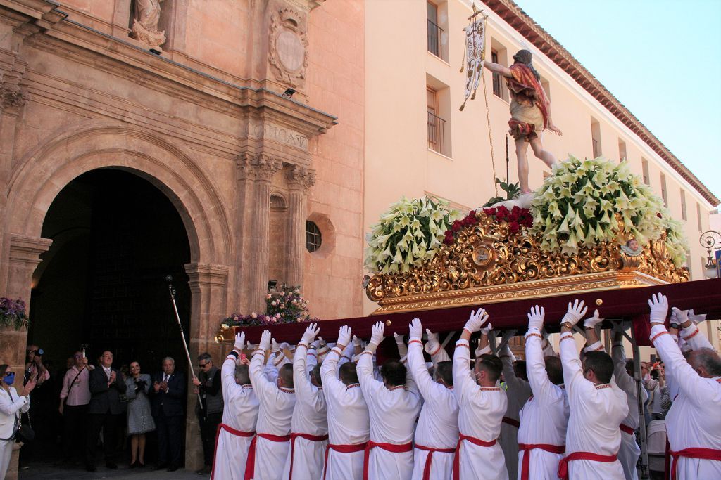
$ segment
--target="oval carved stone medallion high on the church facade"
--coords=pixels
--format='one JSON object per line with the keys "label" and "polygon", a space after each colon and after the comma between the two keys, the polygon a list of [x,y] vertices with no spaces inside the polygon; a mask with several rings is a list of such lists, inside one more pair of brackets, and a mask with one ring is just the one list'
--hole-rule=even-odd
{"label": "oval carved stone medallion high on the church facade", "polygon": [[298,86],[308,67],[308,32],[304,14],[286,6],[270,15],[268,63],[278,81]]}

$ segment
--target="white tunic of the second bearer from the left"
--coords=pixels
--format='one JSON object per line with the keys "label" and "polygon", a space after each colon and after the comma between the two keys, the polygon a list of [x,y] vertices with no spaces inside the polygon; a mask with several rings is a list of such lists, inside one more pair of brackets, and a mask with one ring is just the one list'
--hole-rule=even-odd
{"label": "white tunic of the second bearer from the left", "polygon": [[[257,433],[270,435],[289,435],[291,433],[291,418],[293,407],[296,404],[296,394],[293,389],[279,388],[268,381],[263,373],[265,354],[257,351],[250,361],[250,381],[258,397]],[[255,475],[254,480],[280,480],[283,478],[283,468],[288,458],[290,442],[275,442],[258,437],[255,445]]]}

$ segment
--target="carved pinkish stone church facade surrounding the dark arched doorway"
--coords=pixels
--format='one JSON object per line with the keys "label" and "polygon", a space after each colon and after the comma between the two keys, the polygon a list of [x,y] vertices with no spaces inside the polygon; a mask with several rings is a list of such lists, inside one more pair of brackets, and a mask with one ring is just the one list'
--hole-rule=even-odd
{"label": "carved pinkish stone church facade surrounding the dark arched doorway", "polygon": [[[360,315],[363,22],[360,0],[4,1],[0,296],[30,303],[53,200],[114,169],[182,219],[191,356],[221,355],[219,320],[262,312],[270,279],[303,286],[317,317]],[[27,332],[1,337],[22,369]],[[193,415],[186,438],[196,467]]]}

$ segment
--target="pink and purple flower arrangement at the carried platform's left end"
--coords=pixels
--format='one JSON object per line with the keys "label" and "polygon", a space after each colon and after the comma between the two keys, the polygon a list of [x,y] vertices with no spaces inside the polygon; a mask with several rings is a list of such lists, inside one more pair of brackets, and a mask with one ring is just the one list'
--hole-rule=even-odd
{"label": "pink and purple flower arrangement at the carried platform's left end", "polygon": [[247,327],[250,325],[278,325],[281,323],[317,322],[308,312],[309,301],[301,296],[300,286],[283,286],[280,291],[265,296],[265,313],[231,313],[221,327]]}

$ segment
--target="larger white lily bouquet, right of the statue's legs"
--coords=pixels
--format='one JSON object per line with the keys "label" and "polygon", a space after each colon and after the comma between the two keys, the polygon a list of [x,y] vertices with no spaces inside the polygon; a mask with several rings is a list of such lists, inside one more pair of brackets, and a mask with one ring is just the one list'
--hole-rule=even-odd
{"label": "larger white lily bouquet, right of the statue's legs", "polygon": [[532,211],[533,232],[540,235],[545,251],[560,249],[573,255],[580,248],[619,240],[619,214],[629,238],[644,245],[665,231],[673,263],[680,267],[686,261],[681,224],[671,218],[663,200],[631,173],[626,162],[571,156],[554,166],[552,176],[536,193]]}

